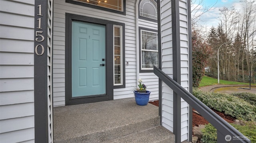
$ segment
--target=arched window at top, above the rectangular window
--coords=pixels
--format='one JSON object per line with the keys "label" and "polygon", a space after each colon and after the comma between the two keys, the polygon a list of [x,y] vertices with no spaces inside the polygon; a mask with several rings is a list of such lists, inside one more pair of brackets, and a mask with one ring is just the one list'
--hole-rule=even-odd
{"label": "arched window at top, above the rectangular window", "polygon": [[154,0],[140,1],[140,16],[157,20],[157,6]]}

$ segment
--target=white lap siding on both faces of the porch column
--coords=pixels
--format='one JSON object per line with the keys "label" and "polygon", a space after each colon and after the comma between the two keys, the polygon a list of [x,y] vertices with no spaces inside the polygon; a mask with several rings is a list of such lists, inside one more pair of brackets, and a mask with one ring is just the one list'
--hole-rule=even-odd
{"label": "white lap siding on both faces of the porch column", "polygon": [[[172,46],[172,5],[170,0],[161,0],[161,36],[162,36],[162,71],[171,78],[174,76],[173,46]],[[188,11],[186,0],[179,0],[180,16],[180,79],[181,86],[189,90],[189,54],[188,54]],[[173,90],[162,83],[162,125],[174,131],[174,101]],[[181,141],[188,139],[189,105],[181,99]]]}

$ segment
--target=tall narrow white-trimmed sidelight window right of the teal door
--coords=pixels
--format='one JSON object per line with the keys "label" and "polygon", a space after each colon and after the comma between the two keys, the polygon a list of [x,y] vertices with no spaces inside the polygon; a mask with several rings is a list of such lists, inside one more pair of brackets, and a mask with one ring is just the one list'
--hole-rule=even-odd
{"label": "tall narrow white-trimmed sidelight window right of the teal door", "polygon": [[114,25],[114,85],[123,85],[122,26]]}

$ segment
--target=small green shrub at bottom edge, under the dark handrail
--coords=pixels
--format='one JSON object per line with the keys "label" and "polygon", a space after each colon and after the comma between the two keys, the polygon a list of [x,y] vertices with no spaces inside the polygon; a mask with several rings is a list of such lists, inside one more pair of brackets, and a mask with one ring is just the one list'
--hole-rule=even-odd
{"label": "small green shrub at bottom edge, under the dark handrail", "polygon": [[212,124],[208,123],[201,131],[203,143],[217,143],[217,129]]}

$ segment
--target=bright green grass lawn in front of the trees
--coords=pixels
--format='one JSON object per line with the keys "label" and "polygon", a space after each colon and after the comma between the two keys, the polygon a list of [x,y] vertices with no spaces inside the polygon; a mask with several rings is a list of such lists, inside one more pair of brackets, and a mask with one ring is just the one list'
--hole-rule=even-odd
{"label": "bright green grass lawn in front of the trees", "polygon": [[[218,79],[216,78],[211,78],[208,76],[204,76],[203,79],[201,80],[199,87],[201,86],[209,86],[209,85],[215,85],[218,84]],[[234,82],[234,81],[228,81],[228,80],[220,80],[220,84],[230,84],[230,85],[249,85],[249,83],[243,83],[243,82]],[[251,85],[256,85],[256,84],[251,84]]]}

